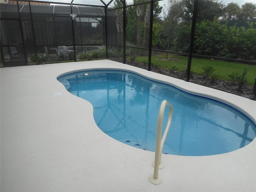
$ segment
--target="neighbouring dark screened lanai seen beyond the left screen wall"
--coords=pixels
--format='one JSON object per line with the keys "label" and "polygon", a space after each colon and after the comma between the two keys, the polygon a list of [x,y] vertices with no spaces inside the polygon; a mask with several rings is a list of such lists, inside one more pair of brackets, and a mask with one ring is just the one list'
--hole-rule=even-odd
{"label": "neighbouring dark screened lanai seen beyond the left screen wall", "polygon": [[1,51],[4,66],[60,61],[67,56],[68,60],[76,61],[82,52],[106,46],[104,4],[76,6],[70,3],[2,3]]}

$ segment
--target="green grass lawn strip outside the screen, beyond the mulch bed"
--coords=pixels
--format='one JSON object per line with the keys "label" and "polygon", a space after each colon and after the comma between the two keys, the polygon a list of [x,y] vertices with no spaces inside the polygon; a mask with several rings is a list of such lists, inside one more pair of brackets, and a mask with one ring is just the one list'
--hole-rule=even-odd
{"label": "green grass lawn strip outside the screen, beyond the mulch bed", "polygon": [[[135,59],[135,62],[147,63],[148,57],[138,57]],[[168,69],[172,69],[176,66],[176,68],[178,68],[177,70],[183,71],[184,64],[185,70],[187,68],[188,57],[169,54],[168,60],[166,60],[165,55],[158,55],[152,56],[151,63],[154,66]],[[239,75],[242,75],[242,73],[244,72],[244,68],[247,68],[247,84],[250,86],[254,85],[256,78],[256,65],[248,65],[221,60],[210,60],[204,58],[192,58],[191,71],[194,74],[203,74],[204,70],[202,69],[202,67],[205,66],[212,66],[215,69],[213,74],[216,74],[219,79],[224,80],[230,80],[228,75],[232,73],[238,73]]]}

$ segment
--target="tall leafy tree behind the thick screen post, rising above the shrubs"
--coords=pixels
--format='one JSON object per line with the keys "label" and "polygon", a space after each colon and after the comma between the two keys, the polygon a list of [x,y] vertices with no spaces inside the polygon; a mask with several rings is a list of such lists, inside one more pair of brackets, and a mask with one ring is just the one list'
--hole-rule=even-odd
{"label": "tall leafy tree behind the thick screen post, rising above the shrubs", "polygon": [[[223,15],[223,4],[218,0],[200,0],[196,22],[204,20],[214,21]],[[187,42],[190,39],[190,24],[192,22],[194,1],[169,0],[167,14],[164,16],[163,26],[172,50],[188,51]],[[184,42],[184,43],[180,43]]]}

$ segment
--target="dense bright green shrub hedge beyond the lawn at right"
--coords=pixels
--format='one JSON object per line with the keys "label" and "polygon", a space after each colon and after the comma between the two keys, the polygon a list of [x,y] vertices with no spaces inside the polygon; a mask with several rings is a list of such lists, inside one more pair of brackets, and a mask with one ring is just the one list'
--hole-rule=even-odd
{"label": "dense bright green shrub hedge beyond the lawn at right", "polygon": [[[247,22],[249,28],[230,26],[215,20],[196,23],[194,54],[226,58],[256,60],[256,23]],[[191,25],[184,25],[173,39],[176,52],[188,52]]]}

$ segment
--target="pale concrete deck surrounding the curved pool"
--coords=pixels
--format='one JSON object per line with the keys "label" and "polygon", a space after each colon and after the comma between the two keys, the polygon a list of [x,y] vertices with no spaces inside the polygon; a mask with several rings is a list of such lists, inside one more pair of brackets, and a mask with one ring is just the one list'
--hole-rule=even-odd
{"label": "pale concrete deck surrounding the curved pool", "polygon": [[255,139],[220,155],[163,154],[163,182],[150,183],[154,152],[104,134],[94,122],[92,105],[56,80],[95,68],[135,71],[222,98],[256,122],[256,102],[248,98],[110,60],[1,68],[1,192],[256,191]]}

